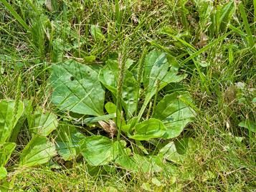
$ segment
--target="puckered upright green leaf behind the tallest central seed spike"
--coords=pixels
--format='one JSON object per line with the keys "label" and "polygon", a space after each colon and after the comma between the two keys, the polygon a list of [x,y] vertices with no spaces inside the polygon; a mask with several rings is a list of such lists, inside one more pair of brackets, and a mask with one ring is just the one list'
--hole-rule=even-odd
{"label": "puckered upright green leaf behind the tallest central seed spike", "polygon": [[[99,80],[103,85],[112,92],[114,97],[117,95],[118,87],[118,62],[115,60],[108,60],[106,66],[100,70]],[[125,77],[122,87],[122,105],[125,109],[128,119],[132,117],[136,110],[137,102],[137,82],[133,74],[125,69]]]}

